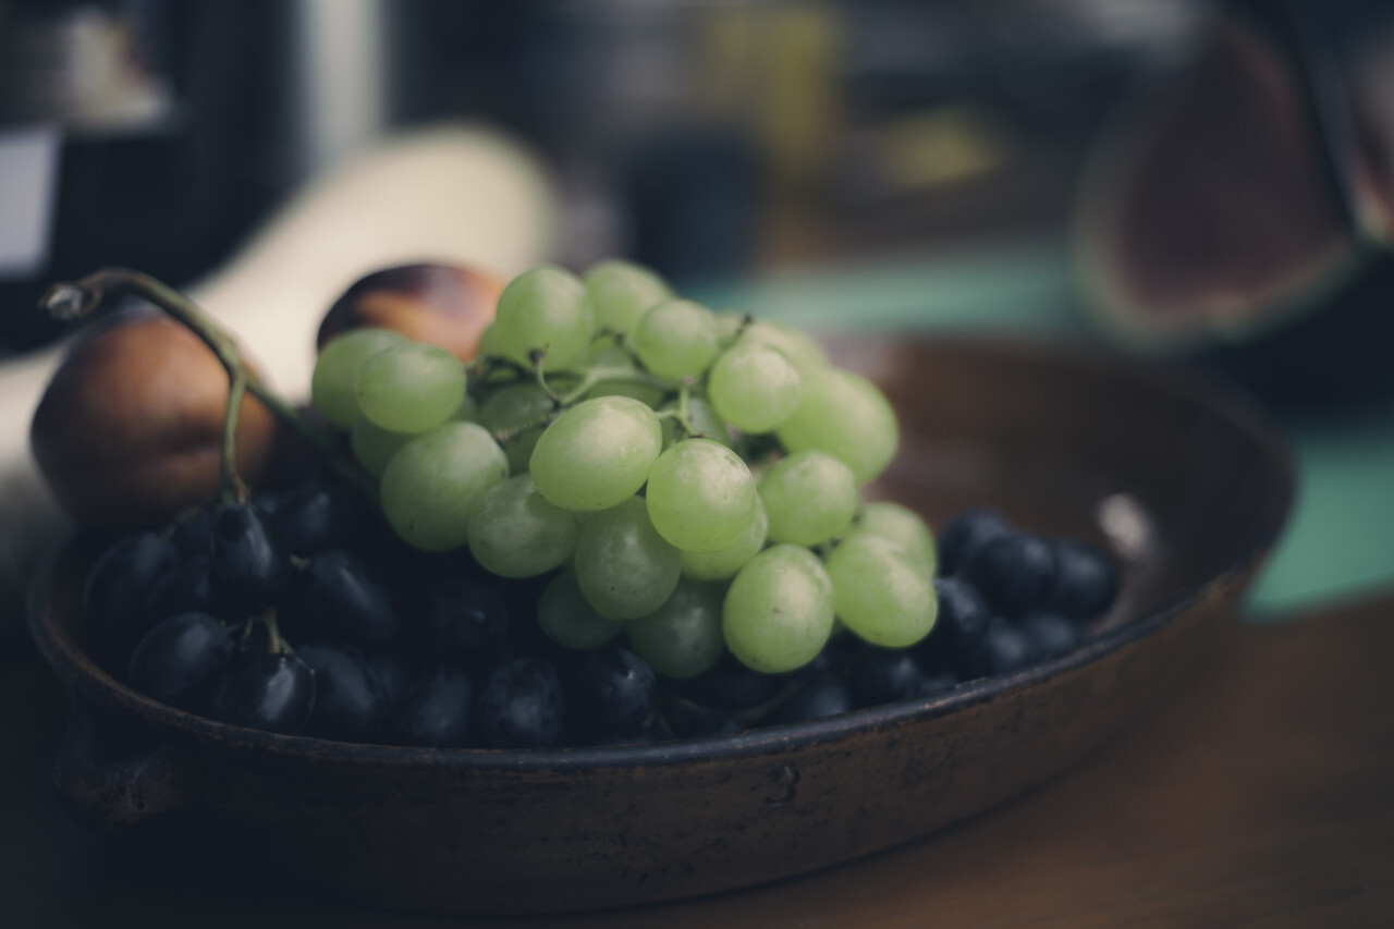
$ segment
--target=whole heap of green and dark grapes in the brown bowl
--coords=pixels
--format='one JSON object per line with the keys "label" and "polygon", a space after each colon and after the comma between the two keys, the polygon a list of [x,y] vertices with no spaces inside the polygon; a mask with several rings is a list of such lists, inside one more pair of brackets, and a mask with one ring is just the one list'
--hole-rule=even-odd
{"label": "whole heap of green and dark grapes in the brown bowl", "polygon": [[1117,591],[1090,547],[863,502],[898,444],[880,391],[627,262],[520,275],[468,365],[348,331],[312,400],[375,501],[261,494],[93,568],[145,693],[346,741],[707,735],[1008,672]]}

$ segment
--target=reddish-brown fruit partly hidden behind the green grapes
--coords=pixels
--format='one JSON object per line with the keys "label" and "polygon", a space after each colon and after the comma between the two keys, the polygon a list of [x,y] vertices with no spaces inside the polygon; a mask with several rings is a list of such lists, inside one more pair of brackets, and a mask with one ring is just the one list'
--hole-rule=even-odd
{"label": "reddish-brown fruit partly hidden behind the green grapes", "polygon": [[400,265],[360,278],[325,314],[315,347],[348,329],[392,329],[413,342],[441,346],[461,361],[474,358],[480,336],[507,282],[478,268]]}

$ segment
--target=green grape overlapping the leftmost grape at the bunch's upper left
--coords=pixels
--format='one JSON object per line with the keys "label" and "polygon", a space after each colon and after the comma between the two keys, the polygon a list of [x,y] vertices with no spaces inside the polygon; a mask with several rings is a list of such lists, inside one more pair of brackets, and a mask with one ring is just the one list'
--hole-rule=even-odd
{"label": "green grape overlapping the leftmost grape at the bunch's upper left", "polygon": [[393,432],[425,432],[464,400],[464,365],[445,349],[408,342],[368,358],[354,385],[358,409]]}

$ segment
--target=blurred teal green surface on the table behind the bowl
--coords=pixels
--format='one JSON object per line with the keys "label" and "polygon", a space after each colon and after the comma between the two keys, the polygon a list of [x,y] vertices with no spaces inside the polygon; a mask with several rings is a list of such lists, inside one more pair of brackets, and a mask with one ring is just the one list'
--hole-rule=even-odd
{"label": "blurred teal green surface on the table behind the bowl", "polygon": [[[1068,250],[1034,241],[790,271],[746,283],[689,287],[815,332],[1013,332],[1097,338]],[[1394,406],[1327,424],[1278,423],[1298,466],[1298,501],[1259,577],[1259,621],[1394,587]]]}

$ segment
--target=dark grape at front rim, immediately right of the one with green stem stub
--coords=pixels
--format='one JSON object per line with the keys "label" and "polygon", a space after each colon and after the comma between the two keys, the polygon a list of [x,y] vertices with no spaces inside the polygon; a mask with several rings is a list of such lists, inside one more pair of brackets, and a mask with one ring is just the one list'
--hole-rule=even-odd
{"label": "dark grape at front rim, immediately right of the one with green stem stub", "polygon": [[296,656],[315,674],[315,709],[305,731],[342,742],[369,742],[388,721],[388,695],[362,653],[347,643],[314,642]]}

